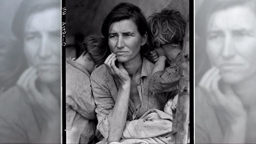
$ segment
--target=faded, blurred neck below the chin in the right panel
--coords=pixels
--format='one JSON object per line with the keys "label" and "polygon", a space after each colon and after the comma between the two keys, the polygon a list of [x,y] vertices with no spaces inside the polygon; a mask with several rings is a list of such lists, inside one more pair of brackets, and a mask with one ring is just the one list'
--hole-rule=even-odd
{"label": "faded, blurred neck below the chin in the right panel", "polygon": [[256,104],[255,82],[256,74],[236,85],[231,85],[233,91],[241,99],[245,107],[254,107]]}

